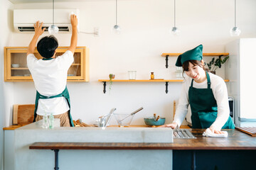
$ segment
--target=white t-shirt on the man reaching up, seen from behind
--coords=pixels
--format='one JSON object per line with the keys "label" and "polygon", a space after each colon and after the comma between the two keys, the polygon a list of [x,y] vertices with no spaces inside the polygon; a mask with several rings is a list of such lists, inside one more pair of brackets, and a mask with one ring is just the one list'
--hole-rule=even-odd
{"label": "white t-shirt on the man reaching up, seen from behind", "polygon": [[[67,85],[70,65],[74,62],[73,53],[66,51],[53,60],[38,60],[35,55],[27,56],[28,69],[33,77],[36,90],[43,96],[61,94]],[[53,113],[59,115],[69,111],[68,102],[64,97],[39,99],[38,115]]]}

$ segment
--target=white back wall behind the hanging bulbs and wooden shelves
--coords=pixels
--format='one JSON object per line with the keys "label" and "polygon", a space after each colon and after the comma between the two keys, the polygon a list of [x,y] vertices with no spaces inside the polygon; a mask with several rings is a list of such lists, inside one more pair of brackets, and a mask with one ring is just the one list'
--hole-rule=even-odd
{"label": "white back wall behind the hanging bulbs and wooden shelves", "polygon": [[[256,37],[256,1],[237,1],[237,24],[242,30],[240,38]],[[146,116],[158,115],[170,123],[173,101],[178,99],[181,83],[170,83],[165,94],[164,83],[114,83],[111,94],[103,94],[98,79],[127,79],[128,70],[137,70],[137,79],[149,79],[150,72],[156,78],[175,79],[176,57],[169,58],[165,68],[163,52],[185,52],[203,44],[203,52],[225,52],[225,44],[236,39],[229,35],[234,26],[234,4],[231,0],[182,0],[176,1],[176,26],[181,30],[178,37],[169,34],[174,26],[174,1],[169,0],[120,0],[118,1],[120,35],[111,30],[115,23],[115,1],[83,1],[55,3],[55,8],[79,8],[80,30],[100,28],[100,37],[79,34],[78,45],[90,48],[90,82],[68,82],[73,119],[94,123],[99,115],[111,108],[117,113],[131,113],[140,106],[144,110],[134,117],[133,124],[143,124]],[[14,4],[14,8],[51,8],[51,3]],[[11,13],[9,15],[12,15]],[[9,21],[11,17],[8,16]],[[47,35],[45,33],[44,35]],[[12,33],[15,40],[9,46],[28,46],[33,34]],[[60,46],[70,44],[70,34],[58,34]],[[205,57],[210,60],[210,57]],[[224,77],[224,68],[217,74]],[[9,103],[34,103],[36,89],[32,82],[4,83],[14,92]],[[9,107],[9,106],[8,106]],[[11,123],[11,111],[5,111],[6,124]],[[112,123],[115,123],[112,120]]]}

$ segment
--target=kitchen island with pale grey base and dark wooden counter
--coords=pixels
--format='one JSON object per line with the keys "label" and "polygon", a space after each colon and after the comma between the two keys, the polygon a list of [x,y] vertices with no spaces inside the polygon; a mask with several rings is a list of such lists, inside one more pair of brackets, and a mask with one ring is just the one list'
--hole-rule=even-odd
{"label": "kitchen island with pale grey base and dark wooden counter", "polygon": [[[71,169],[77,165],[82,169],[191,169],[193,163],[196,169],[255,169],[256,138],[238,130],[227,130],[228,138],[202,137],[203,130],[191,130],[196,139],[174,138],[173,143],[149,143],[131,142],[129,139],[92,142],[93,137],[82,137],[87,128],[71,128],[58,133],[56,130],[59,128],[35,130],[28,126],[25,129],[23,132],[26,131],[30,137],[15,140],[15,169],[53,169],[55,156],[50,150],[53,145],[60,147],[60,169]],[[157,132],[159,128],[150,129]],[[80,136],[68,135],[70,130],[80,131]],[[18,129],[14,131],[17,135]],[[56,138],[46,137],[43,132]],[[65,136],[62,139],[61,134]],[[24,138],[24,133],[21,136]],[[35,148],[46,145],[48,148]],[[29,164],[28,160],[31,160]]]}

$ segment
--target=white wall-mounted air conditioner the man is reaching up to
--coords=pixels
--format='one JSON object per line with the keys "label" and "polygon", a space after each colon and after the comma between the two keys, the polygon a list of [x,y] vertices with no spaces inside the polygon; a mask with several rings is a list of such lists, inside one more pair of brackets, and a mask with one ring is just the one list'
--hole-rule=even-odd
{"label": "white wall-mounted air conditioner the man is reaching up to", "polygon": [[[72,30],[70,14],[74,13],[79,18],[78,9],[54,9],[54,24],[58,26],[59,33],[68,33]],[[43,22],[43,28],[53,24],[53,9],[14,9],[14,29],[18,33],[34,31],[34,23]]]}

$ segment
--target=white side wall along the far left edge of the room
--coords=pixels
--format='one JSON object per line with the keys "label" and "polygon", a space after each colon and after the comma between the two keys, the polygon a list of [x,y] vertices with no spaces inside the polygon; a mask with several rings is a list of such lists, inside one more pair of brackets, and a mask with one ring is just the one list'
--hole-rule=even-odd
{"label": "white side wall along the far left edge of the room", "polygon": [[7,0],[1,0],[0,16],[0,170],[4,169],[4,130],[9,125],[10,107],[14,103],[13,83],[4,82],[4,46],[10,46],[12,41],[11,13],[14,5]]}

